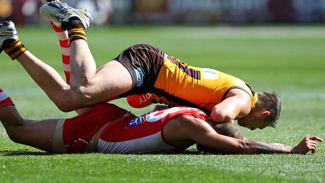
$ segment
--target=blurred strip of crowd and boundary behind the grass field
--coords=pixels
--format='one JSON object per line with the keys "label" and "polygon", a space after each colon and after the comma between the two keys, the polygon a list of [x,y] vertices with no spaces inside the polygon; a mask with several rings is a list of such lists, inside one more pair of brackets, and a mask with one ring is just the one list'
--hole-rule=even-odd
{"label": "blurred strip of crowd and boundary behind the grass field", "polygon": [[[319,23],[325,0],[61,0],[93,13],[96,24]],[[0,0],[0,20],[48,23],[40,0]]]}

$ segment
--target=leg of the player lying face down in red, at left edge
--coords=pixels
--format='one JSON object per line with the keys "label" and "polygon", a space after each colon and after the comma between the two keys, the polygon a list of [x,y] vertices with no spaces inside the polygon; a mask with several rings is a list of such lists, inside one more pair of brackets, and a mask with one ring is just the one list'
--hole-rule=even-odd
{"label": "leg of the player lying face down in red, at left edge", "polygon": [[11,99],[1,89],[0,121],[12,141],[53,151],[52,138],[58,119],[28,120],[22,118]]}

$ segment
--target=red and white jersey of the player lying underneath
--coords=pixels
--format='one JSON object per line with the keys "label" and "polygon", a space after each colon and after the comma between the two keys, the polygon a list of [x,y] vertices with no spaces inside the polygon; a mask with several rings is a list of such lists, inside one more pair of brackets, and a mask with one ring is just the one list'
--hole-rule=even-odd
{"label": "red and white jersey of the player lying underneath", "polygon": [[176,149],[165,140],[163,128],[171,119],[181,115],[208,120],[203,111],[191,107],[172,107],[135,118],[129,114],[104,128],[99,136],[98,152],[148,153]]}

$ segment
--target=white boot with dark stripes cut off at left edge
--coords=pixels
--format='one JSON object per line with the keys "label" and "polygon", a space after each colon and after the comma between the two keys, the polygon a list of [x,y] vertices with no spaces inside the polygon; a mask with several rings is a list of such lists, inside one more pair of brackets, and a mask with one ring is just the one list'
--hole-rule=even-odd
{"label": "white boot with dark stripes cut off at left edge", "polygon": [[16,28],[11,20],[0,23],[0,52],[3,41],[7,39],[18,39]]}

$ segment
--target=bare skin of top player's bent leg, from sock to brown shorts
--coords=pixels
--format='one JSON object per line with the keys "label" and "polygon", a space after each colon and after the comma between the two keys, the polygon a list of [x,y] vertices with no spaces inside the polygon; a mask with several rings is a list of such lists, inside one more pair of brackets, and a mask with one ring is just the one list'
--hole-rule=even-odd
{"label": "bare skin of top player's bent leg, from sock to brown shorts", "polygon": [[99,67],[96,72],[95,61],[85,40],[71,42],[70,66],[71,92],[82,104],[96,103],[132,88],[131,75],[115,60]]}

